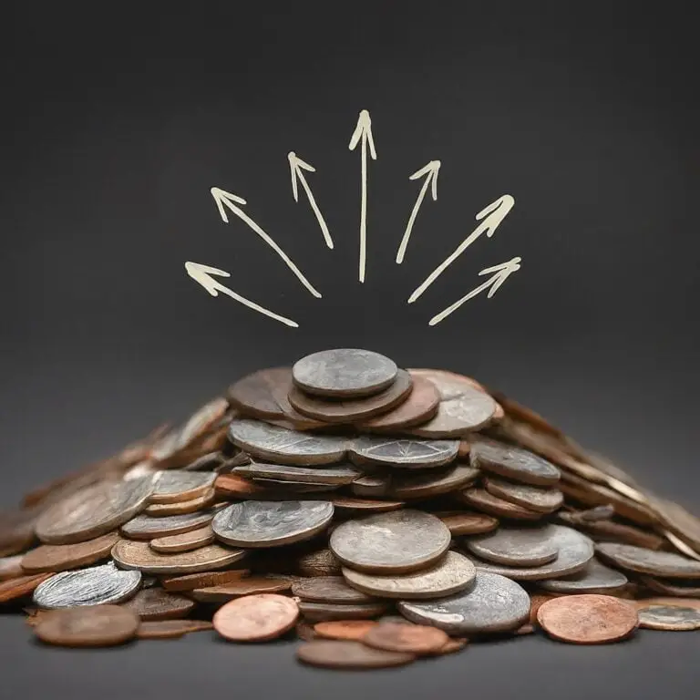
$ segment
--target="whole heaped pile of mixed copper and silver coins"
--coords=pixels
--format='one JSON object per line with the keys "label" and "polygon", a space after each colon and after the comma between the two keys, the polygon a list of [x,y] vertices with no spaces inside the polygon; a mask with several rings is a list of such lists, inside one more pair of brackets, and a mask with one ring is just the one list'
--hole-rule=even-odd
{"label": "whole heaped pile of mixed copper and silver coins", "polygon": [[700,629],[700,520],[508,396],[355,349],[245,376],[0,514],[45,643],[297,635],[334,668]]}

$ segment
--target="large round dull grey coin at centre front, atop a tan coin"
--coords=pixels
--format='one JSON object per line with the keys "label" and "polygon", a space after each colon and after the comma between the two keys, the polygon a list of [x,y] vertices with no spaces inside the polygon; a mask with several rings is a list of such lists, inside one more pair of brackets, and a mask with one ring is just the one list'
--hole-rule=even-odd
{"label": "large round dull grey coin at centre front, atop a tan coin", "polygon": [[329,545],[351,569],[403,573],[423,569],[448,550],[449,530],[420,510],[377,513],[338,525]]}

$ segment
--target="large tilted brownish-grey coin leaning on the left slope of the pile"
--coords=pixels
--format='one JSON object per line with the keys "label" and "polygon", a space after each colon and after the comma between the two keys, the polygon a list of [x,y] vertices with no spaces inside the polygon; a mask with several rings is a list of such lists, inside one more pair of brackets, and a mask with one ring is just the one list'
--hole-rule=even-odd
{"label": "large tilted brownish-grey coin leaning on the left slope of the pile", "polygon": [[152,477],[82,489],[40,516],[36,536],[46,544],[92,540],[137,515],[146,507],[152,490]]}

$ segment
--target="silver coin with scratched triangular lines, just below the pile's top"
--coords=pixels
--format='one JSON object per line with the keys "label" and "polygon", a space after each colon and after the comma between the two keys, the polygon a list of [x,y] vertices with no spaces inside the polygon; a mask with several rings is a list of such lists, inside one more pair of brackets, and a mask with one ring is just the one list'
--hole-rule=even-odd
{"label": "silver coin with scratched triangular lines, just below the pile's top", "polygon": [[458,440],[418,440],[361,436],[349,445],[351,458],[386,467],[442,467],[457,457]]}

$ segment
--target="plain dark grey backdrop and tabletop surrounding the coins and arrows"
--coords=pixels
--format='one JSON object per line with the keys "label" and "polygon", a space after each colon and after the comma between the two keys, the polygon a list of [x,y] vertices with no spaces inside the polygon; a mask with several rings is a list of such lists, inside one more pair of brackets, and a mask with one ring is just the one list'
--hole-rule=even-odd
{"label": "plain dark grey backdrop and tabletop surrounding the coins and arrows", "polygon": [[[690,4],[6,3],[0,132],[0,498],[108,456],[233,379],[329,346],[476,376],[697,510],[698,49]],[[280,4],[282,5],[282,4]],[[357,113],[373,118],[366,283]],[[334,236],[324,247],[286,154]],[[407,261],[396,247],[442,160]],[[314,299],[212,185],[323,293]],[[503,193],[516,205],[407,295]],[[496,295],[427,320],[514,255]],[[286,328],[186,275],[232,289]],[[379,674],[293,664],[207,634],[71,653],[0,620],[10,695],[542,698],[693,695],[698,637],[594,649],[535,638]]]}

